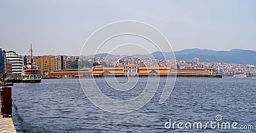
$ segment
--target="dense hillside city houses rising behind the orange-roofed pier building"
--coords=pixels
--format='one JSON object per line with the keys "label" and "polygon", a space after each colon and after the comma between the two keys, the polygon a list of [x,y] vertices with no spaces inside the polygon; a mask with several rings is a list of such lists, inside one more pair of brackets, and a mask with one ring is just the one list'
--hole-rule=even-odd
{"label": "dense hillside city houses rising behind the orange-roofed pier building", "polygon": [[[208,69],[212,68],[214,74],[221,74],[223,76],[233,76],[234,74],[246,74],[247,76],[256,76],[256,67],[252,64],[228,64],[225,62],[202,62],[201,59],[191,61],[184,60],[160,60],[150,58],[136,58],[136,57],[83,57],[79,59],[81,64],[83,62],[97,62],[104,67],[124,67],[127,64],[136,64],[138,66],[147,67],[166,67],[170,66],[172,69]],[[86,63],[88,64],[88,63]],[[88,66],[79,66],[81,68],[90,68]],[[126,70],[125,70],[126,71]]]}

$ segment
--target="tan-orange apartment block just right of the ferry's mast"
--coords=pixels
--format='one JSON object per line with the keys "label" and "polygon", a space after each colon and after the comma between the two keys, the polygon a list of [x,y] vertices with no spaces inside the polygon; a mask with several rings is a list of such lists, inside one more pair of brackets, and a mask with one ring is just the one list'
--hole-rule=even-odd
{"label": "tan-orange apartment block just right of the ferry's mast", "polygon": [[52,55],[34,57],[34,62],[40,68],[40,73],[43,76],[45,76],[45,73],[55,70],[56,58]]}

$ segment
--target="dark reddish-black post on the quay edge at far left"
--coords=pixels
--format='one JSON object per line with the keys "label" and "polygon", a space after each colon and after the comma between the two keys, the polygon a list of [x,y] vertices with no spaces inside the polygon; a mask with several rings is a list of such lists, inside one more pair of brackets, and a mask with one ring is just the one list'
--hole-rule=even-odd
{"label": "dark reddish-black post on the quay edge at far left", "polygon": [[1,115],[3,117],[12,116],[12,88],[3,87],[1,88]]}

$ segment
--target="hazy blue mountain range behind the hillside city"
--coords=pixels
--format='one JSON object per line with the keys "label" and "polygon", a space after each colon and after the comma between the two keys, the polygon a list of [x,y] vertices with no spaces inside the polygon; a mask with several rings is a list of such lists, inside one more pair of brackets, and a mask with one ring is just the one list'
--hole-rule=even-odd
{"label": "hazy blue mountain range behind the hillside city", "polygon": [[[198,48],[185,49],[174,52],[176,60],[193,60],[201,58],[202,62],[225,62],[236,64],[254,64],[256,65],[256,52],[253,50],[234,49],[230,51],[202,50]],[[108,53],[99,53],[95,57],[125,57],[127,55],[112,55]],[[172,52],[154,52],[151,55],[132,55],[133,57],[154,57],[155,59],[173,59]],[[90,55],[88,57],[93,57]]]}

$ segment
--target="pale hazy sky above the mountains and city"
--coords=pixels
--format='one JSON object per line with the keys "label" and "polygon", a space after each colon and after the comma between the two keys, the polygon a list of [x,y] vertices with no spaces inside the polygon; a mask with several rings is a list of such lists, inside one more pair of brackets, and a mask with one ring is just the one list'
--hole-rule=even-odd
{"label": "pale hazy sky above the mountains and city", "polygon": [[[3,1],[0,0],[0,48],[34,55],[93,54],[86,40],[101,27],[122,20],[152,25],[170,42],[173,51],[186,48],[256,50],[256,1]],[[138,45],[100,52],[144,54]],[[136,43],[128,37],[126,42]],[[132,40],[132,41],[131,41]],[[138,41],[137,43],[149,43]],[[108,45],[109,44],[109,45]],[[159,44],[161,45],[161,44]],[[150,46],[149,46],[150,47]],[[83,49],[82,49],[83,48]],[[163,48],[164,51],[165,48]],[[157,51],[152,48],[150,51]],[[168,50],[166,51],[168,52]]]}

